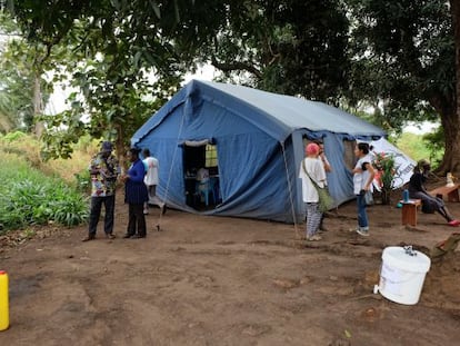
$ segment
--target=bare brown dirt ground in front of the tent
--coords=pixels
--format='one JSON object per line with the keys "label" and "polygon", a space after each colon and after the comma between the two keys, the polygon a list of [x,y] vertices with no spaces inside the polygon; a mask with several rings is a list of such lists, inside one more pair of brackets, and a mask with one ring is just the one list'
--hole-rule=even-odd
{"label": "bare brown dirt ground in front of the tent", "polygon": [[[448,206],[460,217],[460,202]],[[152,208],[147,238],[122,239],[127,209],[117,206],[113,240],[99,230],[81,243],[84,226],[0,238],[0,269],[10,277],[0,345],[460,343],[460,249],[431,264],[417,305],[372,293],[386,247],[429,251],[460,231],[439,215],[403,227],[394,205],[374,205],[362,238],[348,231],[352,201],[328,215],[322,241],[306,243],[303,225],[177,210],[160,219]]]}

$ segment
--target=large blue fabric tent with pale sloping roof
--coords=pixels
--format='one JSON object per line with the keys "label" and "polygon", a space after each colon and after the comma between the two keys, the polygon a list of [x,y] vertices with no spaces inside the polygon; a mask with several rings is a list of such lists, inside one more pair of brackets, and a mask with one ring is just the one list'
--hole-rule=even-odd
{"label": "large blue fabric tent with pale sloping roof", "polygon": [[[304,217],[298,176],[308,140],[323,140],[333,168],[329,189],[340,205],[354,197],[347,168],[354,140],[382,136],[380,128],[326,103],[192,80],[139,128],[131,145],[159,159],[157,194],[173,208],[292,223]],[[199,166],[214,181],[207,208],[194,185]]]}

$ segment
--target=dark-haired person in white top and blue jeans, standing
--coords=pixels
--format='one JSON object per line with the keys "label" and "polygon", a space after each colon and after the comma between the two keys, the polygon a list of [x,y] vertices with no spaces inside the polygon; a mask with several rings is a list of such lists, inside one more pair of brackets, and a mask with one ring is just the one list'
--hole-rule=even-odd
{"label": "dark-haired person in white top and blue jeans, standing", "polygon": [[357,195],[358,228],[353,231],[360,236],[369,236],[369,219],[367,212],[366,194],[371,189],[376,171],[372,167],[372,157],[369,155],[369,144],[359,142],[354,147],[354,156],[358,161],[352,170],[353,191]]}

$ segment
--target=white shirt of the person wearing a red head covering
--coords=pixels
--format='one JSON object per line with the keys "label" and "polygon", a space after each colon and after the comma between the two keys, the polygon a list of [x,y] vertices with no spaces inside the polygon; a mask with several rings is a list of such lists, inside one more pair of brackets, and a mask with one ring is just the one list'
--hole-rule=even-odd
{"label": "white shirt of the person wearing a red head covering", "polygon": [[[304,167],[311,177],[314,179],[314,182],[318,184],[319,187],[324,187],[326,181],[326,171],[324,166],[322,165],[321,160],[316,158],[304,158],[303,162],[306,164]],[[303,164],[300,162],[300,170],[299,170],[299,178],[302,179],[302,198],[304,202],[318,202],[319,197],[317,189],[314,188],[313,184],[311,182],[309,176],[303,170]]]}

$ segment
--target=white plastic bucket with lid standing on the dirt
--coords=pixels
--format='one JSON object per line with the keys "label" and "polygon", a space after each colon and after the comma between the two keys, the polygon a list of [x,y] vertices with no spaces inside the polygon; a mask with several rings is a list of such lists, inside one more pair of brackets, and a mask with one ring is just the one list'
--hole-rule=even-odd
{"label": "white plastic bucket with lid standing on the dirt", "polygon": [[383,249],[378,290],[392,301],[413,305],[419,301],[430,258],[417,250],[390,246]]}

